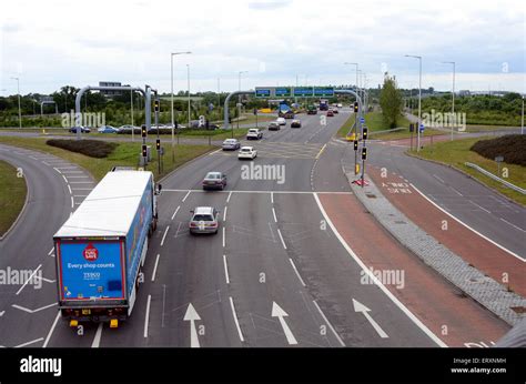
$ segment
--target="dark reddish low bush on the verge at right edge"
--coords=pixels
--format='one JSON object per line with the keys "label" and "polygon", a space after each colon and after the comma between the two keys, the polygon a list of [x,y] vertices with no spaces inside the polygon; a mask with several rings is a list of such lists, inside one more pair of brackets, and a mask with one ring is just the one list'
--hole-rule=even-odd
{"label": "dark reddish low bush on the verge at right edge", "polygon": [[507,134],[492,140],[481,140],[469,149],[479,155],[495,160],[504,156],[508,164],[526,165],[526,134]]}

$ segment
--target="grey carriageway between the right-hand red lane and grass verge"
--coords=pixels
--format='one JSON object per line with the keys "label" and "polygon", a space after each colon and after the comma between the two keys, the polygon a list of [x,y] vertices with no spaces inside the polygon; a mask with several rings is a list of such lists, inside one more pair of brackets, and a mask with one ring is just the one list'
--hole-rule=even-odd
{"label": "grey carriageway between the right-hand red lane and grass verge", "polygon": [[[524,208],[509,201],[508,206],[504,206],[503,198],[498,193],[448,166],[407,156],[397,148],[370,148],[372,150],[368,158],[372,164],[402,174],[425,195],[433,196],[435,203],[455,218],[516,255],[526,255],[524,232],[510,225],[512,223],[525,229]],[[475,201],[481,202],[476,203],[479,206],[473,204]]]}

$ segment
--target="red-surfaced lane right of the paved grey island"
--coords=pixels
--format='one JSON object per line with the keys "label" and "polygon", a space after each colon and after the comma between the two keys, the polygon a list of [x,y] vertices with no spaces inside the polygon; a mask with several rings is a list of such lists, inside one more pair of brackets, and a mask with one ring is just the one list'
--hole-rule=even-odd
{"label": "red-surfaced lane right of the paved grey island", "polygon": [[[526,264],[436,209],[399,175],[370,166],[367,174],[382,193],[411,221],[471,265],[526,295]],[[504,277],[506,277],[505,281]]]}

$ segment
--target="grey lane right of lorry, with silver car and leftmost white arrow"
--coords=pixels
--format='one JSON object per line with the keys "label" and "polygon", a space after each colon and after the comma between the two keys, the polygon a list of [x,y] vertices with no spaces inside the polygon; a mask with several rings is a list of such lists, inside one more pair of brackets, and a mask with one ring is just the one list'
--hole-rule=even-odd
{"label": "grey lane right of lorry, with silver car and leftmost white arrow", "polygon": [[223,211],[225,199],[220,193],[192,193],[181,203],[181,214],[174,219],[152,272],[145,345],[191,346],[191,322],[184,320],[190,304],[200,317],[194,324],[201,346],[241,345],[223,273],[224,224],[218,234],[193,236],[188,230],[190,210],[212,205]]}

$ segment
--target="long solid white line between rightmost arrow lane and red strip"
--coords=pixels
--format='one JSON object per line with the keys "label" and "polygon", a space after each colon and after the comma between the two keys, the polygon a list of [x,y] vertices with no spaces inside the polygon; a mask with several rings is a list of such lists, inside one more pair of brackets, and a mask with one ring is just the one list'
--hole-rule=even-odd
{"label": "long solid white line between rightmost arrow lane and red strip", "polygon": [[322,205],[322,202],[320,201],[320,198],[317,196],[317,193],[314,193],[314,200],[317,203],[317,206],[320,209],[320,212],[322,212],[323,218],[325,221],[328,223],[328,226],[331,226],[331,230],[333,231],[334,235],[336,239],[340,241],[340,243],[343,245],[345,251],[353,257],[353,260],[360,265],[360,267],[368,275],[368,277],[382,290],[382,292],[385,293],[385,295],[391,299],[391,301],[398,306],[398,309],[404,312],[407,317],[409,317],[413,323],[415,323],[416,326],[418,326],[431,340],[433,340],[437,345],[442,347],[447,347],[447,344],[444,343],[437,335],[435,335],[424,323],[422,323],[418,317],[416,317],[396,296],[391,293],[390,290],[385,287],[382,282],[376,279],[374,273],[362,262],[362,260],[354,253],[354,251],[348,246],[347,242],[342,238],[340,232],[336,230],[336,226],[334,226],[331,218],[328,218],[327,213],[325,212],[325,209]]}

